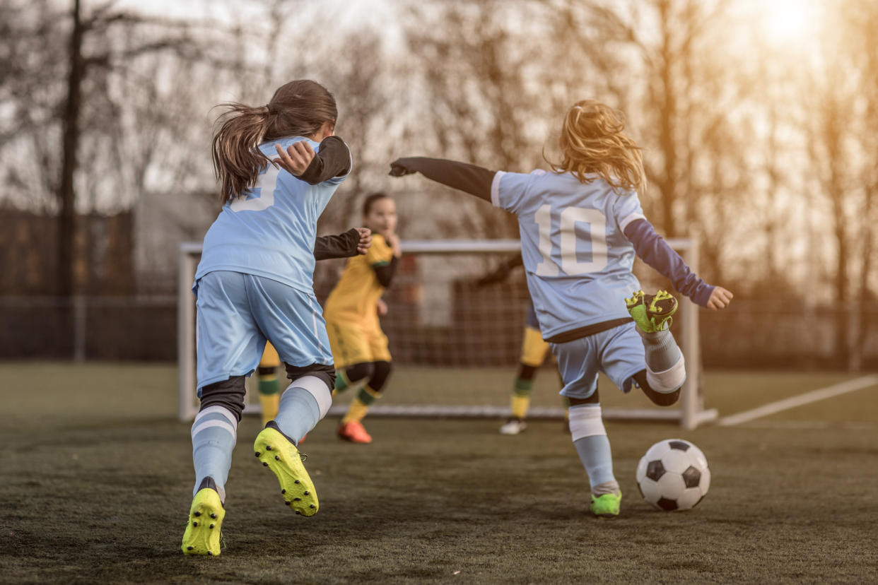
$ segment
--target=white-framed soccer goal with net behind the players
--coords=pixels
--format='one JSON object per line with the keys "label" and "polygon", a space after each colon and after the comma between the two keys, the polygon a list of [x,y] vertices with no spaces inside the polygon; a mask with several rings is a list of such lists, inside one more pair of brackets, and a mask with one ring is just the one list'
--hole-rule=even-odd
{"label": "white-framed soccer goal with net behind the players", "polygon": [[[697,271],[698,250],[689,239],[668,243]],[[408,240],[390,289],[381,325],[390,339],[393,374],[384,396],[370,416],[507,417],[509,399],[521,356],[522,332],[529,303],[522,268],[502,282],[477,281],[503,260],[521,252],[520,242],[507,240]],[[198,411],[195,397],[195,298],[191,284],[201,253],[200,243],[180,246],[178,355],[179,415],[189,420]],[[318,262],[314,290],[322,303],[335,285],[345,260]],[[639,262],[635,272],[644,290],[669,284]],[[608,419],[679,423],[686,429],[716,419],[705,409],[699,352],[698,310],[678,296],[680,309],[672,330],[686,359],[687,381],[673,408],[652,405],[634,389],[623,395],[601,376],[599,391]],[[252,379],[251,379],[252,380]],[[249,389],[246,413],[259,412]],[[564,417],[558,397],[557,367],[548,355],[536,375],[529,418]],[[336,396],[330,416],[347,409],[348,390]]]}

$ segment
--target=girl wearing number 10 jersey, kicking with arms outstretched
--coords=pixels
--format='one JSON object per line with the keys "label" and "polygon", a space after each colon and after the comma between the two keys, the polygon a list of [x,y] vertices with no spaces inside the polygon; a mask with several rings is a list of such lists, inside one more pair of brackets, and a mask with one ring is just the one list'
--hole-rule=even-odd
{"label": "girl wearing number 10 jersey, kicking with arms outstretched", "polygon": [[[618,516],[622,492],[601,419],[598,372],[624,392],[636,384],[660,405],[676,402],[686,380],[668,330],[677,301],[662,290],[639,290],[634,254],[694,303],[717,310],[732,298],[694,275],[644,217],[637,197],[645,186],[640,148],[623,130],[619,112],[585,100],[565,115],[562,158],[551,173],[493,172],[427,158],[391,164],[391,175],[421,172],[518,217],[530,296],[558,358],[561,394],[570,399],[573,445],[591,483],[589,508],[601,517]],[[637,292],[626,298],[631,291]]]}

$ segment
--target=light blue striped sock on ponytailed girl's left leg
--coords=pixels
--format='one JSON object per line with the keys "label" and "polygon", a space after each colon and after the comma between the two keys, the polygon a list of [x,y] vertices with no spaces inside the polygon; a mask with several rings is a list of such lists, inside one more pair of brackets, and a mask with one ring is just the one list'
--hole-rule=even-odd
{"label": "light blue striped sock on ponytailed girl's left leg", "polygon": [[192,463],[195,467],[192,496],[198,493],[198,486],[205,477],[212,477],[220,501],[226,501],[226,481],[237,439],[238,419],[231,410],[209,406],[198,412],[192,423]]}

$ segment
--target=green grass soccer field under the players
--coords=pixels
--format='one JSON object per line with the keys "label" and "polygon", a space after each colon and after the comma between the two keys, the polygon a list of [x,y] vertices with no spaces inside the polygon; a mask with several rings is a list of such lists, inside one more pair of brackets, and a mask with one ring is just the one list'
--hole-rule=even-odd
{"label": "green grass soccer field under the players", "polygon": [[[394,384],[424,375],[400,371]],[[443,375],[456,389],[479,382]],[[726,416],[850,377],[709,372],[706,402]],[[538,400],[557,405],[556,382],[541,378]],[[4,363],[0,380],[2,582],[878,580],[874,387],[740,426],[609,423],[625,495],[616,520],[587,514],[587,478],[557,421],[501,437],[498,420],[387,418],[369,420],[371,446],[339,442],[331,420],[309,434],[320,513],[298,517],[253,457],[259,424],[245,417],[227,547],[190,558],[174,367]],[[689,512],[637,496],[637,460],[670,437],[700,446],[713,474]]]}

